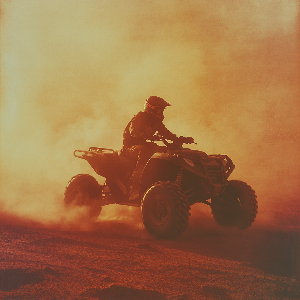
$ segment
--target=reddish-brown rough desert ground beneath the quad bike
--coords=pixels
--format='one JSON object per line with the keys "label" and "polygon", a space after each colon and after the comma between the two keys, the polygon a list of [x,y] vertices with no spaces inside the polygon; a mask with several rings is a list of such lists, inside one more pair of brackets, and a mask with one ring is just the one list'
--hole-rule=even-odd
{"label": "reddish-brown rough desert ground beneath the quad bike", "polygon": [[197,203],[175,240],[149,235],[140,208],[135,222],[100,215],[83,231],[2,215],[1,299],[298,299],[297,199],[261,206],[241,231]]}

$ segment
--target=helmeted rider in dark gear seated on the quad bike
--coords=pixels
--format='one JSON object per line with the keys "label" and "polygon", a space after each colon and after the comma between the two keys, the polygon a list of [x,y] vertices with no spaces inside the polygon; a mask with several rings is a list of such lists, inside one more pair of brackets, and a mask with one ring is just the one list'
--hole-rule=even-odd
{"label": "helmeted rider in dark gear seated on the quad bike", "polygon": [[169,148],[159,146],[156,143],[148,143],[143,139],[150,139],[158,131],[158,134],[174,143],[193,143],[192,137],[176,137],[167,130],[162,123],[164,109],[170,106],[163,98],[151,96],[146,99],[144,111],[135,115],[125,128],[123,134],[122,153],[129,159],[137,161],[131,177],[129,200],[134,201],[139,195],[142,172],[147,162],[155,152],[165,152]]}

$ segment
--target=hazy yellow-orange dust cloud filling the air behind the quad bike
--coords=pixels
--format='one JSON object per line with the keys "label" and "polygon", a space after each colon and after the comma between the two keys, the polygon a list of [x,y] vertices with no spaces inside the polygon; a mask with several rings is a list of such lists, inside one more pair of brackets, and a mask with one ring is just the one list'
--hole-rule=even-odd
{"label": "hazy yellow-orange dust cloud filling the air behind the quad bike", "polygon": [[[298,197],[297,3],[1,1],[2,216],[81,224],[65,185],[104,179],[73,150],[120,149],[151,95],[172,104],[164,124],[192,149],[232,158],[231,179],[259,205]],[[137,214],[109,205],[101,217]]]}

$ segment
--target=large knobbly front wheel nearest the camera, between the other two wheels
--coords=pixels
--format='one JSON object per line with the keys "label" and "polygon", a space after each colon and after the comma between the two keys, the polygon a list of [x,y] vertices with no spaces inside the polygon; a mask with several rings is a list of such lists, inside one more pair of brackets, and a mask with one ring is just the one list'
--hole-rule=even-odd
{"label": "large knobbly front wheel nearest the camera, between the other two wheels", "polygon": [[189,204],[179,185],[169,181],[153,184],[142,201],[146,229],[158,238],[176,238],[188,225]]}

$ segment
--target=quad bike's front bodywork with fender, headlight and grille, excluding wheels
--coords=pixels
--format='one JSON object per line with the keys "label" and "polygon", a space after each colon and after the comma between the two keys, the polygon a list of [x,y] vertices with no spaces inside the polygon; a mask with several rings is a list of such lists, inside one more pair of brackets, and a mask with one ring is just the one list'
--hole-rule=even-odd
{"label": "quad bike's front bodywork with fender, headlight and grille, excluding wheels", "polygon": [[[227,155],[207,155],[205,152],[181,149],[155,153],[143,171],[140,184],[140,201],[151,184],[166,180],[174,182],[183,169],[184,190],[190,205],[203,202],[224,191],[228,176],[235,166]],[[206,203],[207,204],[207,203]]]}

